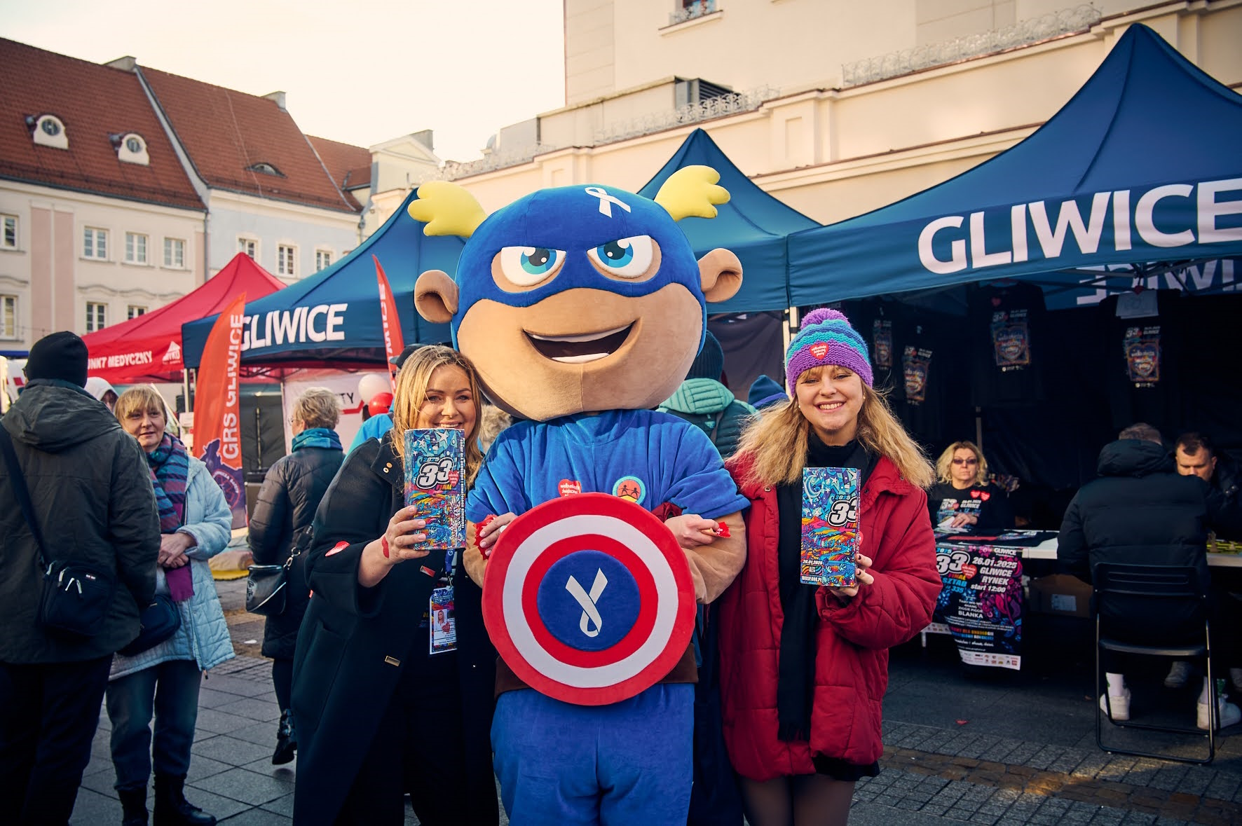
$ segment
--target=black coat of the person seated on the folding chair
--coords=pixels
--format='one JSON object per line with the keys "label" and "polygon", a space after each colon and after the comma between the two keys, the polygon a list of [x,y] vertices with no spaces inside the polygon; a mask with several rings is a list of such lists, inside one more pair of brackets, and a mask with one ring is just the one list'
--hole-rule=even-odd
{"label": "black coat of the person seated on the folding chair", "polygon": [[[1100,478],[1078,491],[1061,523],[1058,568],[1090,581],[1100,563],[1189,565],[1206,585],[1207,530],[1220,518],[1207,483],[1179,476],[1163,446],[1135,438],[1105,445],[1097,470]],[[1191,619],[1150,614],[1134,604],[1102,619],[1114,633],[1120,627],[1149,637]],[[1144,629],[1148,619],[1154,624]]]}

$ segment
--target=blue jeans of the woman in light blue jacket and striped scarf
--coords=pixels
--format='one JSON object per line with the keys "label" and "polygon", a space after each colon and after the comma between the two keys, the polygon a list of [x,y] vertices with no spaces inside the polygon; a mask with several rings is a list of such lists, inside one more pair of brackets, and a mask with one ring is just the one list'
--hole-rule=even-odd
{"label": "blue jeans of the woman in light blue jacket and striped scarf", "polygon": [[184,776],[190,770],[201,681],[197,662],[170,660],[108,683],[117,789],[145,789],[153,763],[155,774]]}

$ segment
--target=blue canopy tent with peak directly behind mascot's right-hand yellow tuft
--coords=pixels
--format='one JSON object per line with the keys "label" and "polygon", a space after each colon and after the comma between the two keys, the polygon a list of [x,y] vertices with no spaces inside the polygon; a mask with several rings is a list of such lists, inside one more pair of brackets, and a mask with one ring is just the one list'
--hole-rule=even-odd
{"label": "blue canopy tent with peak directly behind mascot's right-hand yellow tuft", "polygon": [[728,204],[717,207],[714,219],[682,219],[678,226],[694,247],[694,255],[724,247],[738,256],[743,271],[738,294],[708,309],[712,313],[787,309],[789,255],[785,237],[820,225],[746,178],[703,129],[692,132],[638,194],[655,197],[669,175],[692,165],[710,166],[720,173],[720,185],[729,190],[730,197]]}

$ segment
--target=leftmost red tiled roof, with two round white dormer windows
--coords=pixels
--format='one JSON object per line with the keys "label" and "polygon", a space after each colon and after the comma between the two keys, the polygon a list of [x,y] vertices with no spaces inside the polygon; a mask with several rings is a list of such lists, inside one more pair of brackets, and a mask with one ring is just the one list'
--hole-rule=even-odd
{"label": "leftmost red tiled roof, with two round white dormer windows", "polygon": [[[202,210],[138,78],[0,39],[0,178]],[[37,147],[26,117],[55,114],[68,149]],[[138,133],[150,164],[117,158],[109,135]]]}

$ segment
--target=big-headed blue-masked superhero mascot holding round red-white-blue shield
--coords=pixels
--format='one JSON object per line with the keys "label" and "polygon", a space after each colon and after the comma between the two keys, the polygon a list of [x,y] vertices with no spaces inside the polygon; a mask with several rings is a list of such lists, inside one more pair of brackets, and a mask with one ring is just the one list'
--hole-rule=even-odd
{"label": "big-headed blue-masked superhero mascot holding round red-white-blue shield", "polygon": [[[653,407],[702,348],[707,303],[741,283],[737,256],[696,261],[676,225],[715,216],[729,197],[717,180],[689,166],[655,200],[600,185],[546,189],[491,216],[466,190],[433,181],[410,205],[427,235],[468,238],[456,281],[419,277],[419,313],[451,322],[487,395],[523,420],[497,438],[468,494],[463,556],[484,588],[493,640],[544,641],[540,661],[497,645],[492,745],[515,826],[686,822],[694,604],[741,569],[746,501],[703,431]],[[549,511],[558,507],[579,515]],[[510,512],[518,518],[484,558],[477,527]],[[574,525],[587,525],[585,545],[566,539]],[[518,571],[510,560],[549,530],[573,553]],[[662,569],[643,568],[661,553]],[[489,612],[502,591],[517,596]],[[643,673],[630,667],[636,658]],[[586,677],[569,686],[570,672]]]}

